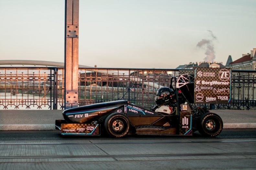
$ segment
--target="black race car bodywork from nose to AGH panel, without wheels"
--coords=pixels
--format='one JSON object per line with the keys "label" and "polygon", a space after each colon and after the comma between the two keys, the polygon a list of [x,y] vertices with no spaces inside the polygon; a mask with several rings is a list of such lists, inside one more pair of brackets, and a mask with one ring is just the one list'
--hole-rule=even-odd
{"label": "black race car bodywork from nose to AGH panel, without wheels", "polygon": [[[56,129],[62,135],[99,135],[86,131],[88,126],[100,129],[111,114],[124,114],[130,123],[130,133],[140,135],[192,135],[192,114],[178,112],[157,113],[128,103],[127,100],[105,102],[71,108],[63,111],[65,120],[56,120]],[[65,127],[65,128],[64,128]],[[100,132],[99,130],[97,132]]]}

